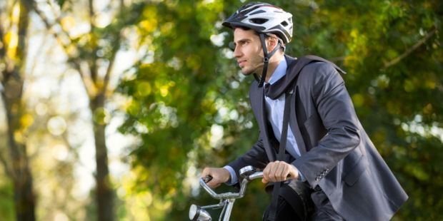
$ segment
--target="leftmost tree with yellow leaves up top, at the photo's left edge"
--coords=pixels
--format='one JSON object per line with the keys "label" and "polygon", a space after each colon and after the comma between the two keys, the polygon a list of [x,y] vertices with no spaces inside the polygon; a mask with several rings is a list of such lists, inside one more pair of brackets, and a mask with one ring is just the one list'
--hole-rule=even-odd
{"label": "leftmost tree with yellow leaves up top, at the photo's left edge", "polygon": [[[22,101],[29,4],[31,1],[7,1],[0,11],[0,93],[6,113],[7,150],[1,151],[0,160],[11,179],[14,189],[14,209],[17,220],[35,220],[36,199],[33,178],[26,148],[26,108]],[[6,154],[5,154],[6,153]]]}

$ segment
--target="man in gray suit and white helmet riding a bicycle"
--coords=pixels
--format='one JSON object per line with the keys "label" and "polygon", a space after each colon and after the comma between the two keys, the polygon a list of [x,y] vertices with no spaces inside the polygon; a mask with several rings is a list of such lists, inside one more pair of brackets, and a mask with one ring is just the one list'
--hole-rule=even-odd
{"label": "man in gray suit and white helmet riding a bicycle", "polygon": [[264,220],[389,220],[407,194],[359,123],[341,70],[284,55],[292,14],[277,6],[246,4],[224,26],[234,30],[242,73],[260,75],[249,90],[260,133],[229,165],[204,168],[207,185],[234,185],[252,165],[274,186]]}

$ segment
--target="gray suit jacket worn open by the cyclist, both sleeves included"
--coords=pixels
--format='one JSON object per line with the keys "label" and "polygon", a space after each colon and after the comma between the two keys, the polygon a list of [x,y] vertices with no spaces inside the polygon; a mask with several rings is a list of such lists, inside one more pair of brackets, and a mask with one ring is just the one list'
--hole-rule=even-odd
{"label": "gray suit jacket worn open by the cyclist, both sleeves included", "polygon": [[[285,56],[288,69],[294,58]],[[289,75],[287,71],[287,76]],[[252,83],[249,99],[260,133],[257,143],[229,165],[264,168],[278,142],[267,120],[263,88]],[[289,126],[302,155],[292,163],[311,187],[319,185],[345,220],[389,220],[407,194],[362,128],[349,93],[329,63],[305,66],[291,101]]]}

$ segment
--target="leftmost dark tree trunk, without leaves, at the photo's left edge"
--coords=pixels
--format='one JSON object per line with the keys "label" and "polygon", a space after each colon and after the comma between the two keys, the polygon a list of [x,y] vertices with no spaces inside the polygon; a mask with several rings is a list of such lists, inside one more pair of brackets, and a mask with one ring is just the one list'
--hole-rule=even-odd
{"label": "leftmost dark tree trunk, without leaves, at the photo's left edge", "polygon": [[[35,206],[36,199],[33,191],[33,180],[29,169],[29,158],[26,153],[26,128],[22,128],[20,123],[24,114],[24,105],[21,101],[24,84],[24,64],[26,59],[26,33],[29,26],[29,9],[24,2],[20,2],[20,14],[18,24],[19,42],[16,47],[16,62],[12,59],[5,59],[9,62],[3,72],[1,84],[1,98],[7,121],[7,137],[9,160],[4,161],[7,174],[14,184],[14,208],[16,220],[36,220]],[[2,53],[5,53],[3,51]],[[6,55],[4,55],[6,56]]]}

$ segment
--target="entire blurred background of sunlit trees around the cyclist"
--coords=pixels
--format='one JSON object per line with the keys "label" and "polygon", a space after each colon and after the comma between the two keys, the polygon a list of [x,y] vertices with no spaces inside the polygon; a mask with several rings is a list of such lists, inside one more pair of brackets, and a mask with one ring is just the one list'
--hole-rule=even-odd
{"label": "entire blurred background of sunlit trees around the cyclist", "polygon": [[[254,80],[221,26],[246,2],[1,0],[0,220],[186,220],[192,203],[215,203],[201,169],[258,137]],[[442,220],[443,2],[268,2],[294,15],[289,55],[347,71],[409,194],[393,220]],[[232,220],[261,220],[263,188]]]}

